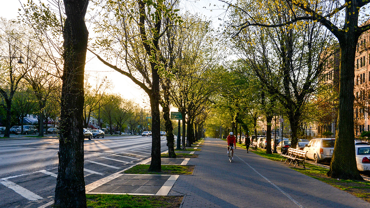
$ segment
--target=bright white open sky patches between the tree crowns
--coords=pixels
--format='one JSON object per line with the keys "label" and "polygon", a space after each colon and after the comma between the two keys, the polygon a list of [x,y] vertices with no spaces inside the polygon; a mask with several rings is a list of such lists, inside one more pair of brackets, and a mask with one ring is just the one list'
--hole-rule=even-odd
{"label": "bright white open sky patches between the tree crowns", "polygon": [[[27,3],[27,0],[0,0],[0,17],[5,17],[6,19],[17,19],[18,9],[21,7],[21,3]],[[43,2],[47,3],[46,0]],[[220,23],[219,17],[223,18],[223,10],[218,10],[214,7],[214,4],[220,4],[218,0],[183,0],[180,3],[180,9],[182,12],[189,11],[191,13],[198,13],[201,16],[206,16],[209,20],[213,20],[213,26],[217,27]],[[211,5],[211,6],[210,6]],[[213,9],[211,11],[211,9]],[[88,14],[87,14],[88,15]],[[88,18],[88,16],[86,16]],[[89,33],[93,33],[92,28],[89,28]],[[128,77],[118,73],[115,70],[102,64],[93,54],[87,53],[86,57],[85,73],[89,73],[90,82],[94,80],[95,77],[104,78],[107,76],[112,86],[112,93],[120,94],[121,97],[126,99],[132,99],[139,104],[142,108],[150,109],[149,97],[145,94],[138,85],[134,84]]]}

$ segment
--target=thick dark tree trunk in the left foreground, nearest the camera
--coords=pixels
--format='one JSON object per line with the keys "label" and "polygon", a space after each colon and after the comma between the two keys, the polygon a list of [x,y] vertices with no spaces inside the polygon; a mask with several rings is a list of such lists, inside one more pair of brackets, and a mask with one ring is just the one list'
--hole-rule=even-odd
{"label": "thick dark tree trunk in the left foreground, nearest the camera", "polygon": [[64,69],[61,92],[59,166],[54,207],[85,208],[84,70],[88,31],[84,17],[88,0],[64,0]]}

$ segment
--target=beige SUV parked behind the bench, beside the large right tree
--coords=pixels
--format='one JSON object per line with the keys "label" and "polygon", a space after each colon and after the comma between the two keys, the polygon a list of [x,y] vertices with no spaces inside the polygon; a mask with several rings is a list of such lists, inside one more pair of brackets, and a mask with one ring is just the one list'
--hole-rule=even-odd
{"label": "beige SUV parked behind the bench, beside the large right tree", "polygon": [[307,151],[306,157],[316,163],[330,162],[334,151],[335,138],[312,139],[303,149]]}

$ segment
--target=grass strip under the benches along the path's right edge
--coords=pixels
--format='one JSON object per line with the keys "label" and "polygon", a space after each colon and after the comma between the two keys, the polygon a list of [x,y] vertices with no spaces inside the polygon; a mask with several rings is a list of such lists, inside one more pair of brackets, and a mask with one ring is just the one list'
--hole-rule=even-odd
{"label": "grass strip under the benches along the path's right edge", "polygon": [[[240,148],[245,148],[245,146],[237,144]],[[250,151],[250,150],[249,150]],[[264,158],[268,158],[273,161],[279,161],[282,159],[280,154],[266,154],[266,150],[259,149],[257,151],[252,151]],[[302,165],[298,168],[294,168],[293,166],[289,166],[293,170],[301,172],[305,175],[308,175],[312,178],[315,178],[319,181],[325,182],[333,187],[339,188],[342,191],[346,191],[356,197],[360,197],[363,200],[370,202],[370,181],[352,181],[352,180],[337,180],[335,178],[327,177],[326,173],[328,171],[327,168],[320,167],[317,165],[305,163],[306,168],[303,168]]]}

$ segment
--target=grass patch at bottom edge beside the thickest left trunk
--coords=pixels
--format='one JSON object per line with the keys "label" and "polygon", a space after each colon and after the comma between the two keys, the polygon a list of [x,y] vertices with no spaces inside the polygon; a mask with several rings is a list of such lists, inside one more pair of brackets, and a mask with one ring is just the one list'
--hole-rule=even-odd
{"label": "grass patch at bottom edge beside the thickest left trunk", "polygon": [[87,194],[88,208],[178,208],[182,196]]}

